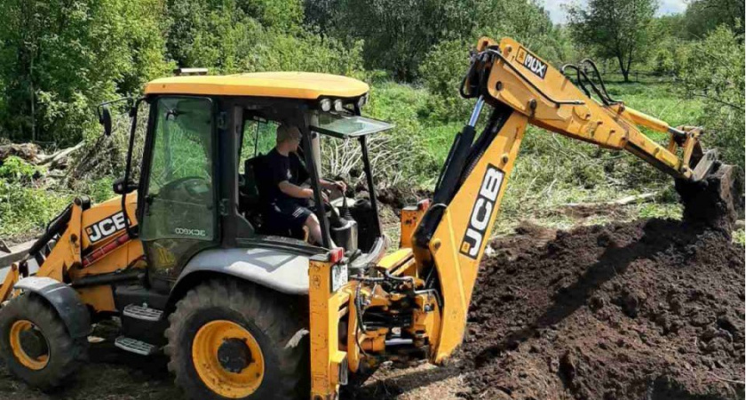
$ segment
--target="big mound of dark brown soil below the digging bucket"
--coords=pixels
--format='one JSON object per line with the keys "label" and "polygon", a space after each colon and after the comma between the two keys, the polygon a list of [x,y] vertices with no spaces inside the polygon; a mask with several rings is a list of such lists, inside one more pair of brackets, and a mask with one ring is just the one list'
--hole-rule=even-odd
{"label": "big mound of dark brown soil below the digging bucket", "polygon": [[743,248],[726,231],[646,220],[534,236],[491,244],[459,356],[464,396],[743,397]]}

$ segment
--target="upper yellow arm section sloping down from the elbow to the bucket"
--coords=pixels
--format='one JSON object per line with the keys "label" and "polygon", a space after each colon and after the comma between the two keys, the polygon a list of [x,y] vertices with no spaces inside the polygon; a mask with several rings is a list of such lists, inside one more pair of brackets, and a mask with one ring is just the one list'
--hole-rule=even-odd
{"label": "upper yellow arm section sloping down from the elbow to the bucket", "polygon": [[[484,96],[490,102],[501,102],[527,116],[529,124],[547,131],[603,148],[630,151],[674,178],[701,180],[714,161],[709,158],[694,171],[692,164],[702,159],[702,129],[671,127],[611,99],[591,60],[583,60],[581,66],[566,65],[560,71],[509,38],[500,44],[483,38],[478,51],[464,83],[467,97]],[[599,85],[586,71],[595,72]],[[566,76],[567,72],[575,72],[580,88]],[[597,94],[598,101],[591,98],[591,92]],[[648,138],[640,127],[669,133],[668,146]]]}

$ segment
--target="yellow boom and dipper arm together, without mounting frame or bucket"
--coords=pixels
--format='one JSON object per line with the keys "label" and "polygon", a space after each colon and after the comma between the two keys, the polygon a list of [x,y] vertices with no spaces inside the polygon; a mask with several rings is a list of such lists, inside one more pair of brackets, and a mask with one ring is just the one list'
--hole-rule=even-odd
{"label": "yellow boom and dipper arm together, without mounting frame or bucket", "polygon": [[[597,75],[590,60],[583,60]],[[424,268],[435,268],[443,321],[431,360],[439,363],[461,343],[466,313],[480,260],[527,124],[583,140],[602,148],[626,150],[677,180],[698,181],[715,167],[717,153],[703,152],[697,127],[671,127],[611,99],[588,68],[560,71],[504,38],[480,39],[461,88],[477,98],[469,124],[457,135],[433,194],[433,207],[414,234],[415,255]],[[566,76],[575,72],[575,86]],[[591,98],[594,92],[599,100]],[[492,108],[487,126],[474,140],[482,108]],[[646,127],[670,134],[661,146],[641,132]]]}

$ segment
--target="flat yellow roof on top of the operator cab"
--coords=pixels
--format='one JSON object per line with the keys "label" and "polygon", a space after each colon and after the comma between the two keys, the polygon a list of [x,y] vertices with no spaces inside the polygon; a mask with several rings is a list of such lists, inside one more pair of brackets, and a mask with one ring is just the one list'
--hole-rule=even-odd
{"label": "flat yellow roof on top of the operator cab", "polygon": [[227,76],[171,76],[155,79],[145,94],[258,96],[316,100],[351,98],[369,91],[368,84],[346,76],[313,72],[258,72]]}

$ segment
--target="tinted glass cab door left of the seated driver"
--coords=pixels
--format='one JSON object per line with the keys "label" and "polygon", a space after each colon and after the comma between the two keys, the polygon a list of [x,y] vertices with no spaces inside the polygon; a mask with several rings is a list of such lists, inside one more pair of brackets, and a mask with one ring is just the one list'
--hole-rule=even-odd
{"label": "tinted glass cab door left of the seated driver", "polygon": [[139,236],[151,284],[168,284],[196,252],[218,244],[215,106],[200,97],[154,103]]}

